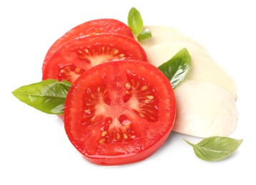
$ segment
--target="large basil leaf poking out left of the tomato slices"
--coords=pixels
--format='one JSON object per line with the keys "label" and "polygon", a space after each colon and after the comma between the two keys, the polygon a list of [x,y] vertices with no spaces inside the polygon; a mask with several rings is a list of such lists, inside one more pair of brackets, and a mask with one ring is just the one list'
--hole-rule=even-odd
{"label": "large basil leaf poking out left of the tomato slices", "polygon": [[24,85],[12,92],[21,102],[47,114],[59,115],[64,112],[64,102],[71,83],[63,80],[43,80]]}

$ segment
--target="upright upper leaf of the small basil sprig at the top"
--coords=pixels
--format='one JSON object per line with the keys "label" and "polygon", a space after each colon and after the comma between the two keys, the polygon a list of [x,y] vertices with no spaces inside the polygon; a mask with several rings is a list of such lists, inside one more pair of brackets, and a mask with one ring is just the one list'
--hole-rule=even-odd
{"label": "upright upper leaf of the small basil sprig at the top", "polygon": [[138,35],[143,31],[143,20],[139,11],[132,7],[128,14],[128,26],[131,28],[132,33]]}

